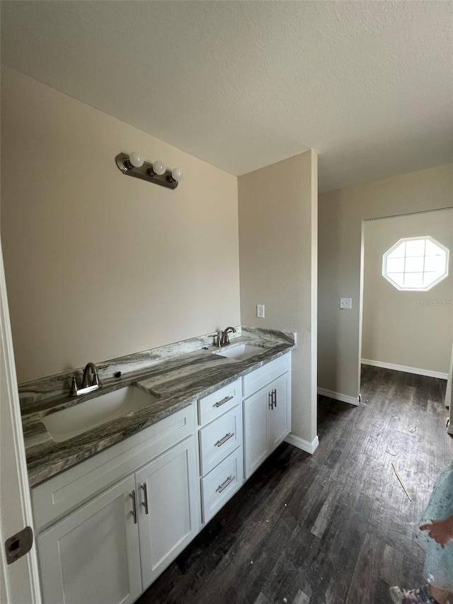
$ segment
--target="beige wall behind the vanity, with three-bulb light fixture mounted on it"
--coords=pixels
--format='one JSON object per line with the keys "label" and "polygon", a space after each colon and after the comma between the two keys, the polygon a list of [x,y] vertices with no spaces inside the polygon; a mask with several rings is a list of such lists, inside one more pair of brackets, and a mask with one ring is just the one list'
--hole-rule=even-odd
{"label": "beige wall behind the vanity, with three-bulb light fixture mounted on it", "polygon": [[[1,237],[18,380],[239,324],[237,179],[11,69]],[[180,166],[174,191],[119,152]]]}

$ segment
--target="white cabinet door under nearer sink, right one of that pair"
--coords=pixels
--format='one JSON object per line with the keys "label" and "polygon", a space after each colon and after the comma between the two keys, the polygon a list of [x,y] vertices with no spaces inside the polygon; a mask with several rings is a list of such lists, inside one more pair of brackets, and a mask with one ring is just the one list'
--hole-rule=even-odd
{"label": "white cabinet door under nearer sink, right one of that pair", "polygon": [[195,469],[192,435],[135,474],[144,589],[197,533]]}

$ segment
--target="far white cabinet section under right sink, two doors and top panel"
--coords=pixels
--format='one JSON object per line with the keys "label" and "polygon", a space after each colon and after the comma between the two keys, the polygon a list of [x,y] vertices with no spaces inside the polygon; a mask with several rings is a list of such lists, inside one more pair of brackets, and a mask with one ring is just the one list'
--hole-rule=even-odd
{"label": "far white cabinet section under right sink, two doors and top panel", "polygon": [[291,431],[291,355],[246,375],[243,394],[244,471],[248,479]]}

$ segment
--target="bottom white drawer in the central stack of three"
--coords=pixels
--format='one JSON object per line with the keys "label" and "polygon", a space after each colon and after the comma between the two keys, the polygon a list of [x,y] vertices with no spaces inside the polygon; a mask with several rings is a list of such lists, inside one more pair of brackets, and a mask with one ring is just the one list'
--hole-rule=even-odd
{"label": "bottom white drawer in the central stack of three", "polygon": [[208,522],[243,483],[242,447],[201,479],[203,521]]}

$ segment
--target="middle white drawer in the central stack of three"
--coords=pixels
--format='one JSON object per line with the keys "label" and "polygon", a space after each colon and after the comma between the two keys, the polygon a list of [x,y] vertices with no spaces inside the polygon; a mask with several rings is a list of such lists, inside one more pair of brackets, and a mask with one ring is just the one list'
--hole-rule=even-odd
{"label": "middle white drawer in the central stack of three", "polygon": [[242,445],[242,408],[234,407],[200,430],[200,473],[206,476]]}

